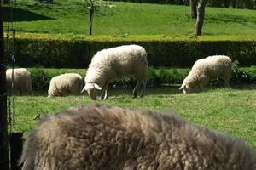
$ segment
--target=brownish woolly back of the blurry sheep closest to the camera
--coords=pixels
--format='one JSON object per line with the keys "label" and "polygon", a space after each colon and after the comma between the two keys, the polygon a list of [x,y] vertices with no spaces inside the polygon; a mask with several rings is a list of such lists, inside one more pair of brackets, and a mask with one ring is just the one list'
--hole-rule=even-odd
{"label": "brownish woolly back of the blurry sheep closest to the camera", "polygon": [[255,170],[256,152],[172,114],[87,105],[41,122],[22,162],[23,170]]}

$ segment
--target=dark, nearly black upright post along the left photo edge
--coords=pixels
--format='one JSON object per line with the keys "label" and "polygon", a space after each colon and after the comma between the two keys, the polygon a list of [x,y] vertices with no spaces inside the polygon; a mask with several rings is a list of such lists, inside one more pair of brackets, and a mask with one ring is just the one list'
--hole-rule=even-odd
{"label": "dark, nearly black upright post along the left photo edge", "polygon": [[3,15],[0,1],[0,167],[9,170],[9,138],[7,130],[6,76],[3,45]]}

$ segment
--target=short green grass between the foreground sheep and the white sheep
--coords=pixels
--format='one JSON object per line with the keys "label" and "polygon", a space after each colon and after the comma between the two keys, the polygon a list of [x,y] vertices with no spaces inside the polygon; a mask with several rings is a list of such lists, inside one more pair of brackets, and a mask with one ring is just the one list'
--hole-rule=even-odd
{"label": "short green grass between the foreground sheep and the white sheep", "polygon": [[[188,95],[182,94],[177,88],[148,88],[143,99],[132,99],[131,89],[112,89],[108,100],[97,102],[125,108],[175,111],[189,122],[244,139],[256,149],[255,85],[207,88],[205,92]],[[87,94],[47,98],[44,92],[38,96],[16,96],[15,131],[29,133],[38,123],[32,120],[38,113],[46,115],[90,102]]]}

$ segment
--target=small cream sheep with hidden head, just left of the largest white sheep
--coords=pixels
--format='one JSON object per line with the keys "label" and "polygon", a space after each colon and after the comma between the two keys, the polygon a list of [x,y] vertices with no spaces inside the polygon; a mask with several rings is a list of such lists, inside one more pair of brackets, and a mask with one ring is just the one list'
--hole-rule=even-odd
{"label": "small cream sheep with hidden head, just left of the largest white sheep", "polygon": [[66,73],[53,77],[49,82],[48,97],[80,94],[83,78],[79,74]]}

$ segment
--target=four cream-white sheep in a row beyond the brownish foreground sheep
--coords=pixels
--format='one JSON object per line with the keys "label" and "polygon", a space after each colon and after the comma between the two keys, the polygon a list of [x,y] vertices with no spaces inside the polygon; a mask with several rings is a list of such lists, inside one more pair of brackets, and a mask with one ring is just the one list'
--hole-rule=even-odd
{"label": "four cream-white sheep in a row beyond the brownish foreground sheep", "polygon": [[[148,67],[147,52],[138,45],[125,45],[116,48],[103,49],[91,59],[91,63],[83,80],[79,74],[66,73],[53,77],[49,83],[48,96],[78,95],[87,91],[90,99],[96,100],[97,90],[102,90],[100,99],[108,99],[109,82],[133,75],[137,84],[132,91],[137,97],[137,89],[142,87],[140,96],[143,97],[146,88],[146,69]],[[212,79],[223,78],[228,86],[231,75],[232,61],[224,55],[210,56],[198,59],[189,75],[183,80],[180,89],[187,94],[193,88],[201,88]],[[13,89],[20,90],[20,94],[32,93],[31,74],[26,69],[7,70],[7,82],[11,85],[14,77]]]}

